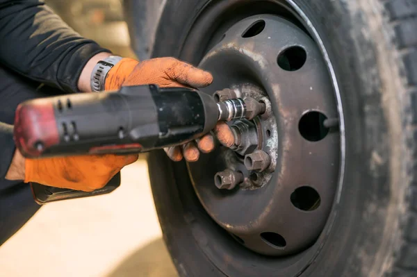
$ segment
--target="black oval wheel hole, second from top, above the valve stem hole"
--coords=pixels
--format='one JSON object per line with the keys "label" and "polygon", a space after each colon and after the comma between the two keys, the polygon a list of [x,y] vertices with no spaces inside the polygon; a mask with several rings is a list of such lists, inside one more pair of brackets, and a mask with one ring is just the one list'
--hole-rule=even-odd
{"label": "black oval wheel hole, second from top, above the valve stem hole", "polygon": [[282,51],[277,59],[279,67],[287,72],[300,69],[307,60],[307,53],[302,47],[289,47]]}

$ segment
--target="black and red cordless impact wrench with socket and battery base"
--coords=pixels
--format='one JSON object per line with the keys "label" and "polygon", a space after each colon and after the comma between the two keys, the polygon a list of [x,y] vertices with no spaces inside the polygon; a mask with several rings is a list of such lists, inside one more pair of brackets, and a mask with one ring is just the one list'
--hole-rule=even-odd
{"label": "black and red cordless impact wrench with socket and battery base", "polygon": [[[243,99],[217,102],[199,90],[157,85],[124,86],[112,92],[51,96],[21,103],[14,137],[25,158],[85,154],[127,154],[162,149],[195,140],[219,120],[245,117]],[[31,183],[40,204],[106,194],[119,175],[94,192]]]}

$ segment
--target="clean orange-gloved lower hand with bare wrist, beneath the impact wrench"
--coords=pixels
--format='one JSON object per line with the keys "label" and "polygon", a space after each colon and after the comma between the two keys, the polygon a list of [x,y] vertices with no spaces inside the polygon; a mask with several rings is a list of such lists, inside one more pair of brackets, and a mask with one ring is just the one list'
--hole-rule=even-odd
{"label": "clean orange-gloved lower hand with bare wrist, beneath the impact wrench", "polygon": [[104,187],[124,166],[138,155],[72,156],[25,159],[18,150],[6,174],[8,180],[24,180],[51,187],[91,192]]}

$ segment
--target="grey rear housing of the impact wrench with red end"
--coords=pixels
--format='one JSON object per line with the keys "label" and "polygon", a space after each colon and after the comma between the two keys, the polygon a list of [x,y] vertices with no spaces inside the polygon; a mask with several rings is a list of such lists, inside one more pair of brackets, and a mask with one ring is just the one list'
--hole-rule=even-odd
{"label": "grey rear housing of the impact wrench with red end", "polygon": [[[33,99],[16,110],[14,137],[25,158],[139,153],[158,138],[152,85]],[[141,128],[140,133],[136,128]]]}

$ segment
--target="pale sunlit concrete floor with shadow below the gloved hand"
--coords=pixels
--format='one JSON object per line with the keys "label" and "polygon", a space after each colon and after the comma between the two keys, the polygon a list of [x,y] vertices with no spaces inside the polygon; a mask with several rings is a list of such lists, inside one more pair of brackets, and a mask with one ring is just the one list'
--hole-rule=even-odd
{"label": "pale sunlit concrete floor with shadow below the gloved hand", "polygon": [[122,185],[111,194],[44,205],[0,247],[0,276],[177,276],[146,161],[122,169]]}

